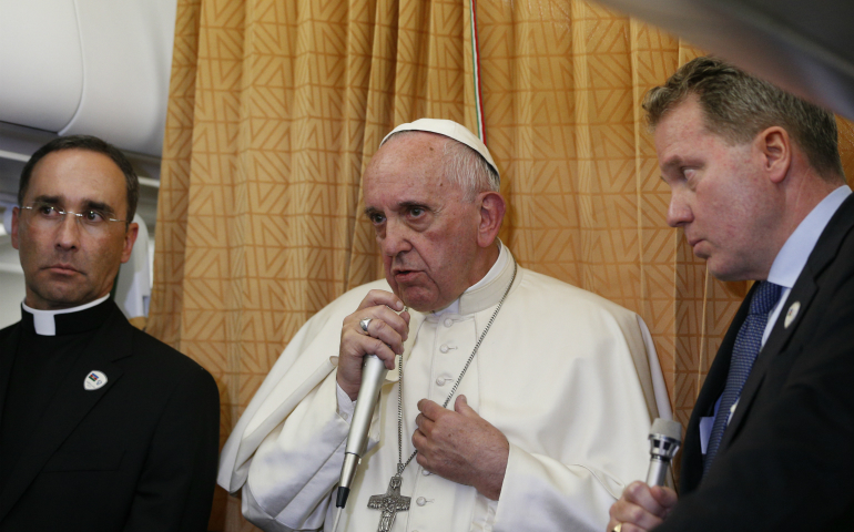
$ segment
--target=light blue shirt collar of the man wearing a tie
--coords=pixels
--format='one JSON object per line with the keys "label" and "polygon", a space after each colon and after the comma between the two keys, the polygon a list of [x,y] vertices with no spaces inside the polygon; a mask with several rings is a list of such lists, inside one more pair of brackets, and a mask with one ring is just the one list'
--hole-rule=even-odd
{"label": "light blue shirt collar of the man wearing a tie", "polygon": [[[780,285],[783,288],[792,288],[795,280],[801,276],[806,259],[813,253],[819,237],[827,226],[836,209],[842,202],[851,194],[847,185],[842,185],[832,193],[827,194],[819,205],[797,225],[797,228],[789,236],[786,243],[777,253],[771,270],[767,274],[767,280]],[[781,297],[781,300],[784,299]]]}

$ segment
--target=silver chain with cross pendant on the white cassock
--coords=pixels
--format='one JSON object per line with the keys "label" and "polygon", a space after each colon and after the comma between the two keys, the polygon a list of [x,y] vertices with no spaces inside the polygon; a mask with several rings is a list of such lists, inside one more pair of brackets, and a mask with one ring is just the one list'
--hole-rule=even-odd
{"label": "silver chain with cross pendant on the white cassock", "polygon": [[[510,283],[507,285],[507,289],[505,290],[504,296],[501,296],[501,300],[498,301],[498,306],[496,307],[495,313],[492,313],[492,317],[489,318],[489,323],[487,323],[486,328],[484,328],[484,332],[480,334],[480,338],[478,338],[477,344],[475,344],[475,348],[471,350],[471,355],[468,356],[468,360],[466,360],[466,365],[462,367],[462,371],[460,371],[459,377],[457,377],[457,381],[454,382],[454,387],[450,389],[450,393],[448,393],[448,397],[445,399],[441,408],[447,408],[448,403],[450,402],[450,398],[454,397],[454,393],[457,392],[457,388],[459,387],[462,377],[466,375],[466,371],[468,371],[468,367],[471,365],[471,360],[475,359],[475,355],[477,355],[477,350],[480,348],[480,344],[484,341],[484,338],[486,338],[487,332],[489,332],[489,328],[492,327],[492,323],[495,321],[496,316],[498,316],[498,311],[501,310],[501,306],[504,305],[505,299],[507,299],[507,295],[510,293],[510,288],[514,286],[518,266],[516,264],[516,259],[512,260],[514,275],[510,278]],[[385,492],[385,494],[373,495],[368,500],[369,509],[383,511],[383,514],[379,518],[379,528],[377,528],[377,532],[389,532],[392,530],[392,524],[395,522],[395,515],[397,512],[405,512],[409,510],[410,498],[400,495],[400,484],[403,483],[404,470],[407,466],[409,466],[409,462],[413,461],[415,456],[418,454],[418,449],[416,449],[411,454],[409,454],[409,458],[406,459],[406,462],[404,462],[403,355],[400,356],[400,364],[397,366],[397,474],[392,477],[392,481],[388,483],[388,490]]]}

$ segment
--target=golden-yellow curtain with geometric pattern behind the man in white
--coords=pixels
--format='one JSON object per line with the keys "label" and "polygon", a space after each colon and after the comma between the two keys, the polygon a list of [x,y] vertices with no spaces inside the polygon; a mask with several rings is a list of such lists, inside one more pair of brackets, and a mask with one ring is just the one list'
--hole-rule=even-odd
{"label": "golden-yellow curtain with geometric pattern behind the man in white", "polygon": [[[688,421],[748,286],[664,223],[639,102],[700,51],[593,3],[480,0],[478,70],[470,1],[179,0],[148,330],[214,375],[223,440],[299,326],[383,275],[360,214],[379,141],[421,116],[477,131],[476,71],[502,239],[640,314]],[[253,530],[222,490],[211,528]]]}

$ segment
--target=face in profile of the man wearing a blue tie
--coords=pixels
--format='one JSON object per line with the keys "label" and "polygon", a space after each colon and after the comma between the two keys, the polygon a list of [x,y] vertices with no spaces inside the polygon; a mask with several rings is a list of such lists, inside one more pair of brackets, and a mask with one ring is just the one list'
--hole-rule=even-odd
{"label": "face in profile of the man wearing a blue tie", "polygon": [[709,132],[695,96],[664,115],[654,140],[671,191],[668,224],[684,229],[719,279],[765,278],[776,255],[766,235],[779,219],[755,143],[730,144]]}

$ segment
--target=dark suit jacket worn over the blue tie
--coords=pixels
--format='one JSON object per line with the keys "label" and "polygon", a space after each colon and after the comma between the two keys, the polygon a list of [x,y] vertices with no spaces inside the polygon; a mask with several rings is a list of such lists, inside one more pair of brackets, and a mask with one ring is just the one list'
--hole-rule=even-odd
{"label": "dark suit jacket worn over the blue tie", "polygon": [[701,482],[699,422],[723,392],[753,290],[744,299],[685,431],[680,501],[657,531],[854,530],[853,227],[854,195],[792,288]]}

